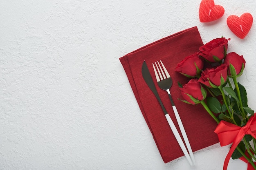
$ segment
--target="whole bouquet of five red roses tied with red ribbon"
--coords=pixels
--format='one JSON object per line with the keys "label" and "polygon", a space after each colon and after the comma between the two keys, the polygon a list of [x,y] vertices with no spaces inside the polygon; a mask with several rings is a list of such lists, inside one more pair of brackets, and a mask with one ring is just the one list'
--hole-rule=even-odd
{"label": "whole bouquet of five red roses tied with red ribbon", "polygon": [[227,53],[229,40],[211,40],[177,64],[175,71],[191,78],[187,84],[179,84],[183,97],[180,100],[202,104],[218,123],[215,132],[220,145],[232,144],[224,170],[230,157],[240,158],[248,162],[248,168],[256,170],[256,116],[247,105],[245,87],[237,81],[245,60],[243,55]]}

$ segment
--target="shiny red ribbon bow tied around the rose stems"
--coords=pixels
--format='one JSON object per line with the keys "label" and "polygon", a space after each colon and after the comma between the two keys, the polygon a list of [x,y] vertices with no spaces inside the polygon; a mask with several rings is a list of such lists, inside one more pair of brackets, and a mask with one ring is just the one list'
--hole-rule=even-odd
{"label": "shiny red ribbon bow tied around the rose stems", "polygon": [[245,135],[252,135],[252,137],[256,138],[256,117],[254,115],[250,117],[247,124],[243,127],[236,126],[227,121],[220,121],[214,132],[218,135],[220,146],[233,143],[224,161],[223,170],[227,170],[229,159],[243,137]]}

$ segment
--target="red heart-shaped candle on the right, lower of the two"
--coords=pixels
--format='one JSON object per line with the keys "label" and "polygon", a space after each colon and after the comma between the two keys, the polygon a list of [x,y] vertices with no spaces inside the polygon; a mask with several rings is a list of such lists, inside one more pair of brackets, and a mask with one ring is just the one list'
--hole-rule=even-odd
{"label": "red heart-shaped candle on the right, lower of the two", "polygon": [[227,26],[240,39],[244,39],[252,27],[253,18],[250,13],[244,13],[240,17],[230,15],[227,18]]}

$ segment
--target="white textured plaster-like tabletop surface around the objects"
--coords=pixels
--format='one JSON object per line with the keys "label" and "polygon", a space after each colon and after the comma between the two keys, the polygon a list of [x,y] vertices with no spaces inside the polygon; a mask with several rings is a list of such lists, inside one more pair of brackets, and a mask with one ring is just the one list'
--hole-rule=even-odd
{"label": "white textured plaster-like tabletop surface around the objects", "polygon": [[[1,170],[221,170],[229,146],[164,163],[139,110],[119,57],[198,26],[204,43],[231,38],[244,55],[239,78],[256,110],[256,27],[244,40],[229,15],[255,0],[216,0],[224,16],[200,23],[200,0],[1,0]],[[240,160],[229,170],[245,170]]]}

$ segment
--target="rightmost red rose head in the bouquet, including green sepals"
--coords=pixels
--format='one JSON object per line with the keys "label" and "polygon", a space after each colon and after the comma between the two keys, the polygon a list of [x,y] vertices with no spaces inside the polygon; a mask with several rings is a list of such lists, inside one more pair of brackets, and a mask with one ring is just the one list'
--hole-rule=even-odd
{"label": "rightmost red rose head in the bouquet, including green sepals", "polygon": [[245,59],[243,55],[235,52],[228,53],[224,63],[229,66],[229,76],[240,76],[245,68]]}

